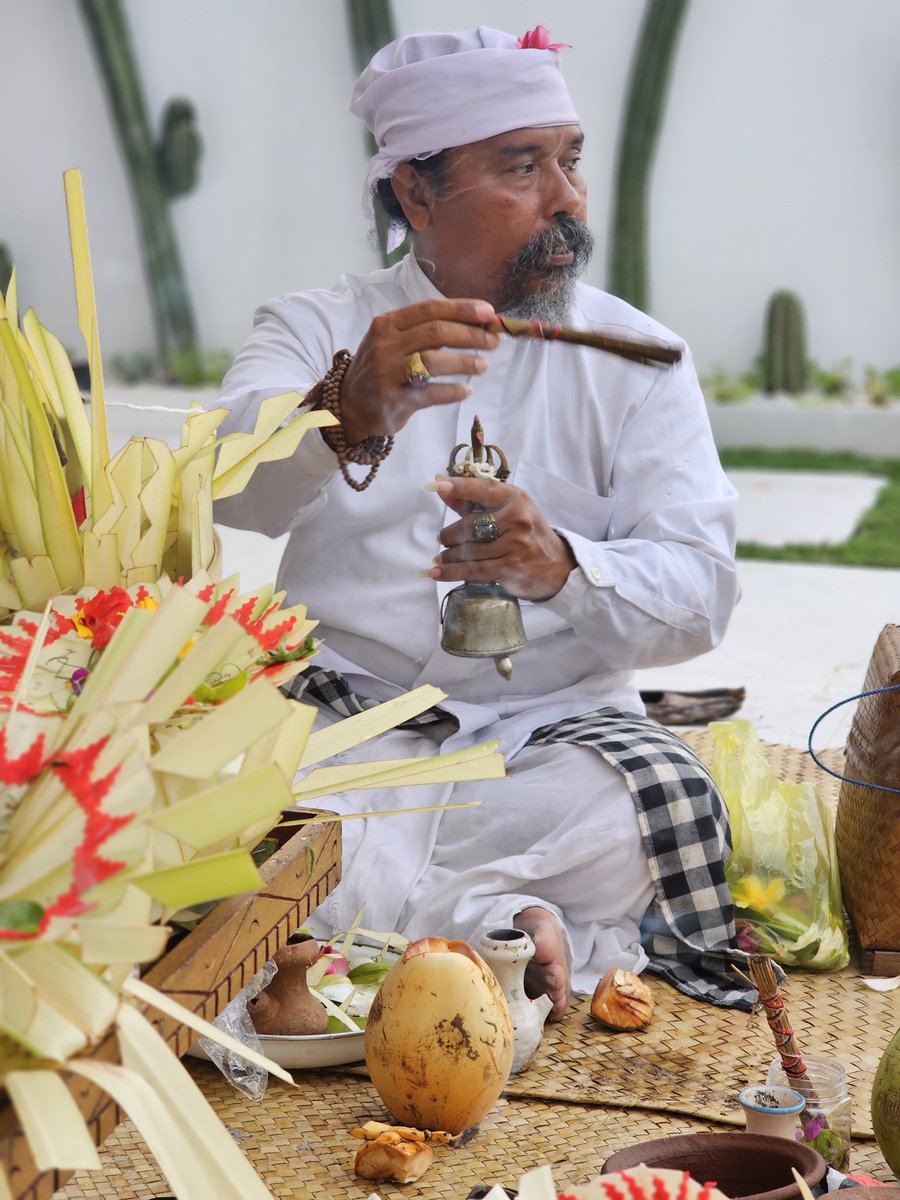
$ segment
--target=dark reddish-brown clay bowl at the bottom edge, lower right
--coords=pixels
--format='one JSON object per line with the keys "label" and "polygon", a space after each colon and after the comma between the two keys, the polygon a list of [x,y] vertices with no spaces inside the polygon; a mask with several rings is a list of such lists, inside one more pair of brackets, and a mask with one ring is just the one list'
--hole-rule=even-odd
{"label": "dark reddish-brown clay bowl at the bottom edge, lower right", "polygon": [[715,1183],[732,1200],[799,1200],[791,1168],[797,1169],[810,1188],[822,1182],[827,1170],[818,1151],[787,1138],[690,1133],[619,1150],[606,1159],[601,1174],[626,1171],[638,1163],[689,1171],[697,1183]]}

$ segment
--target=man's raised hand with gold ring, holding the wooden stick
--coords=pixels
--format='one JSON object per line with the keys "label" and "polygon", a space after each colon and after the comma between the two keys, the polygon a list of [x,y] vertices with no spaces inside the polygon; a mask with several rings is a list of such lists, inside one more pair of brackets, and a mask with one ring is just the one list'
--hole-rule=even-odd
{"label": "man's raised hand with gold ring, holding the wooden stick", "polygon": [[[485,329],[493,317],[486,300],[424,300],[376,317],[341,389],[347,443],[394,434],[416,409],[455,404],[472,395],[468,384],[440,383],[439,377],[487,370],[479,352],[499,344],[499,335]],[[432,376],[421,388],[407,382],[407,359],[415,353]]]}

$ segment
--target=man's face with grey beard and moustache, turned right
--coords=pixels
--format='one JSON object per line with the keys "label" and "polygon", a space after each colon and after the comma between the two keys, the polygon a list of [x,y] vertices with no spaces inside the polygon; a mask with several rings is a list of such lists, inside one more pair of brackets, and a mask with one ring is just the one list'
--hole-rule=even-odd
{"label": "man's face with grey beard and moustache, turned right", "polygon": [[444,295],[560,319],[590,254],[582,142],[580,126],[554,125],[449,152],[415,240],[419,262]]}

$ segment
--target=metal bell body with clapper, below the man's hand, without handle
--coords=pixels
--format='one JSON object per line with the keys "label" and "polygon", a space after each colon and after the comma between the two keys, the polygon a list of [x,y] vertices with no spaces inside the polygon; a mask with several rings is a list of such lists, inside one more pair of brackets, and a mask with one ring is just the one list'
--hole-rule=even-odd
{"label": "metal bell body with clapper, below the man's hand, without handle", "polygon": [[440,618],[440,646],[463,659],[493,659],[504,679],[510,654],[526,643],[518,600],[499,583],[461,583],[448,592]]}

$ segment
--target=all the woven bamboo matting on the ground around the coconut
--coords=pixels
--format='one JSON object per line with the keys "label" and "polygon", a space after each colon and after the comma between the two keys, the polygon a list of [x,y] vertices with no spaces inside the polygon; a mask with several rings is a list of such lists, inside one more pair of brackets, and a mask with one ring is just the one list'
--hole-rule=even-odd
{"label": "all the woven bamboo matting on the ground around the coconut", "polygon": [[[708,758],[706,732],[688,739]],[[836,803],[838,781],[805,752],[767,751],[779,778],[809,779]],[[839,751],[821,757],[840,769]],[[575,1184],[636,1141],[742,1124],[737,1092],[762,1081],[773,1057],[763,1018],[701,1004],[660,980],[650,983],[656,1010],[647,1030],[605,1031],[590,1019],[587,1000],[580,1001],[564,1022],[546,1027],[535,1063],[510,1081],[472,1142],[456,1151],[439,1147],[419,1183],[384,1184],[378,1194],[383,1200],[463,1200],[478,1182],[515,1186],[521,1170],[541,1163],[553,1165],[558,1184]],[[847,1069],[852,1169],[893,1180],[871,1140],[869,1097],[898,1025],[896,994],[870,991],[856,965],[836,974],[791,972],[784,994],[804,1050],[833,1056]],[[371,1195],[372,1188],[353,1175],[358,1142],[348,1130],[364,1120],[390,1118],[364,1067],[298,1072],[296,1088],[271,1081],[259,1103],[246,1100],[206,1064],[190,1062],[188,1069],[280,1200]],[[59,1200],[150,1200],[168,1190],[130,1122],[108,1139],[101,1159],[102,1172],[79,1174]]]}

